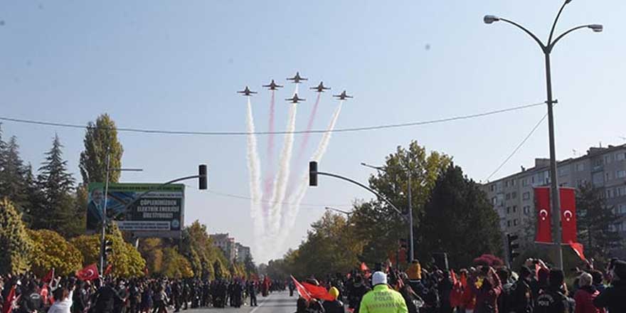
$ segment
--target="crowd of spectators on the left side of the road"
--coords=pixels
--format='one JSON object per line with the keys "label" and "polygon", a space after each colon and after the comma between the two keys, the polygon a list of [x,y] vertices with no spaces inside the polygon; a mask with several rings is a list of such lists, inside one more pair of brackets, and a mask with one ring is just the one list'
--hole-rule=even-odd
{"label": "crowd of spectators on the left side of the road", "polygon": [[[1,313],[166,313],[201,307],[257,306],[257,295],[285,290],[283,282],[262,280],[97,279],[31,273],[0,276]],[[248,303],[249,300],[249,303]]]}

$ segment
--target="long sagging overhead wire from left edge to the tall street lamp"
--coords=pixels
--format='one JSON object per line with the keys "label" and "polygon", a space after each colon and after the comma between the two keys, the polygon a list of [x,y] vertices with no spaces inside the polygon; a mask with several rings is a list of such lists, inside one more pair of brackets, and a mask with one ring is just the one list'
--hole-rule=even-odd
{"label": "long sagging overhead wire from left edge to the tall street lamp", "polygon": [[[445,117],[436,120],[425,120],[425,121],[417,121],[417,122],[406,122],[406,123],[397,123],[397,124],[381,124],[374,126],[366,126],[366,127],[349,127],[349,128],[336,128],[336,129],[310,129],[310,130],[297,130],[294,132],[286,132],[286,131],[278,131],[278,132],[203,132],[203,131],[182,131],[182,130],[167,130],[167,129],[142,129],[142,128],[132,128],[132,127],[115,127],[117,132],[137,132],[144,134],[185,134],[185,135],[205,135],[205,136],[243,136],[248,134],[323,134],[327,132],[362,132],[362,131],[370,131],[377,129],[390,129],[390,128],[399,128],[399,127],[412,127],[412,126],[421,126],[426,124],[438,124],[443,122],[452,122],[457,120],[469,120],[477,117],[485,117],[489,115],[496,115],[504,112],[512,112],[517,110],[524,110],[530,107],[537,107],[539,105],[543,105],[544,102],[532,103],[529,105],[519,105],[516,107],[509,107],[506,109],[500,110],[492,110],[482,113],[475,113],[471,115],[460,115],[455,117]],[[77,128],[77,129],[110,129],[111,127],[93,127],[88,125],[81,124],[72,124],[65,122],[48,122],[41,120],[29,120],[29,119],[20,119],[15,117],[4,117],[0,116],[0,120],[6,122],[16,122],[16,123],[24,123],[24,124],[37,124],[43,126],[53,126],[53,127],[66,127],[66,128]]]}

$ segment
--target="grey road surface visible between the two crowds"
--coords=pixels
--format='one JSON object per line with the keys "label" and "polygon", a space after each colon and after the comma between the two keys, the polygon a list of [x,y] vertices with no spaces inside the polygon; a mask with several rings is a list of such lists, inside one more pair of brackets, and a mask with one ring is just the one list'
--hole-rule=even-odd
{"label": "grey road surface visible between the two crowds", "polygon": [[[186,311],[181,311],[182,313],[214,313],[214,312],[222,312],[222,313],[294,313],[296,312],[296,301],[297,294],[293,297],[289,297],[289,292],[273,292],[269,297],[261,297],[260,295],[257,298],[257,302],[259,304],[258,307],[250,307],[249,305],[245,305],[240,308],[234,307],[226,307],[224,309],[214,309],[214,308],[201,308],[201,309],[189,309]],[[248,299],[248,303],[250,304],[250,299]]]}

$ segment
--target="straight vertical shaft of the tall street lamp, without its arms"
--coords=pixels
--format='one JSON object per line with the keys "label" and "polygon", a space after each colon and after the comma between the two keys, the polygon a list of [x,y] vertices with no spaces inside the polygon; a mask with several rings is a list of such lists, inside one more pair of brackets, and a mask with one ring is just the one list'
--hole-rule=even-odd
{"label": "straight vertical shaft of the tall street lamp, without its arms", "polygon": [[552,223],[553,236],[556,240],[556,263],[563,269],[563,247],[561,247],[561,194],[558,192],[556,174],[556,149],[554,147],[554,115],[552,107],[555,103],[552,99],[552,73],[550,68],[551,48],[546,48],[546,87],[548,89],[548,136],[550,137],[550,183],[552,200]]}

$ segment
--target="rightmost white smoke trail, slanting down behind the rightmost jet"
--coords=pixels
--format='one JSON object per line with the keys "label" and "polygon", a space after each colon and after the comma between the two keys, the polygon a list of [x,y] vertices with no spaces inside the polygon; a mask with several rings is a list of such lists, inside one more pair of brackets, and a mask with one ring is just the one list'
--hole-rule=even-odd
{"label": "rightmost white smoke trail, slanting down behind the rightmost jet", "polygon": [[[341,100],[339,102],[339,106],[337,106],[334,114],[331,117],[330,124],[328,125],[327,132],[324,132],[322,135],[322,140],[320,140],[317,145],[317,150],[311,157],[311,161],[322,161],[324,154],[326,154],[326,149],[330,143],[330,137],[332,135],[332,130],[335,128],[335,124],[337,119],[339,118],[339,113],[341,112],[341,106],[344,105],[344,101]],[[280,249],[282,245],[285,243],[289,233],[293,229],[296,221],[296,217],[298,216],[298,212],[300,210],[300,203],[302,203],[302,199],[307,194],[307,189],[309,188],[309,169],[307,166],[307,171],[304,172],[302,179],[297,182],[297,189],[294,193],[294,196],[289,199],[290,203],[294,203],[292,205],[291,210],[285,211],[284,218],[282,218],[282,227],[280,228],[280,233],[278,234],[278,243],[273,245],[275,248]]]}

